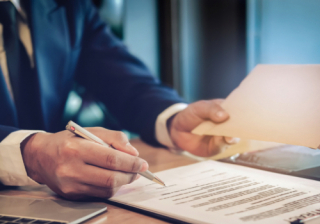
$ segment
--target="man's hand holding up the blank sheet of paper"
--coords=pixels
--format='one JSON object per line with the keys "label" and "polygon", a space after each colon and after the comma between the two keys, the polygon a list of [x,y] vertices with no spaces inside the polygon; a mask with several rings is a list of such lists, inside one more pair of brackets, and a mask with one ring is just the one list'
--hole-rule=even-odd
{"label": "man's hand holding up the blank sheet of paper", "polygon": [[237,143],[237,138],[199,136],[191,133],[203,121],[221,123],[228,120],[228,113],[220,106],[222,102],[221,99],[198,101],[172,117],[168,121],[168,129],[173,143],[197,156],[212,156],[227,145]]}

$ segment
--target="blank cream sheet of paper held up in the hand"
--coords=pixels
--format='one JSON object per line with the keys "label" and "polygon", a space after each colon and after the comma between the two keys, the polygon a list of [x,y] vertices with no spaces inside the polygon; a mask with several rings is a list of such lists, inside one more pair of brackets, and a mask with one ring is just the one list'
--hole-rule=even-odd
{"label": "blank cream sheet of paper held up in the hand", "polygon": [[319,93],[320,65],[258,65],[223,102],[230,119],[193,133],[318,148]]}

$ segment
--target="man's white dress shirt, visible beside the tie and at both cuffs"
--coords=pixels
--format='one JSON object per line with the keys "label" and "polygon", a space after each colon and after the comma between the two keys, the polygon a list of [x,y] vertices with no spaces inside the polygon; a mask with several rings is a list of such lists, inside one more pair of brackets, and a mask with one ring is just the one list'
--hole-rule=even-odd
{"label": "man's white dress shirt, visible beside the tie and at both cuffs", "polygon": [[[0,0],[0,2],[1,1],[9,1],[9,0]],[[20,40],[23,43],[28,53],[30,64],[33,67],[34,66],[33,47],[32,47],[30,29],[27,23],[26,14],[24,13],[24,10],[20,7],[19,0],[11,0],[11,2],[15,5],[17,11],[19,12],[17,21],[18,21]],[[2,33],[3,33],[3,26],[0,23],[0,69],[2,70],[2,73],[4,75],[7,88],[11,93],[12,100],[14,100],[14,96],[13,96],[13,92],[10,84]],[[168,133],[167,120],[174,114],[185,109],[186,107],[187,107],[187,104],[184,104],[184,103],[174,104],[169,108],[167,108],[166,110],[164,110],[157,117],[157,120],[156,120],[156,124],[155,124],[156,139],[158,140],[158,142],[167,146],[169,149],[172,149],[173,151],[175,147]],[[21,149],[20,149],[21,142],[31,134],[34,134],[37,132],[43,132],[43,131],[21,130],[21,131],[12,132],[5,139],[3,139],[2,142],[0,142],[0,182],[2,182],[5,185],[11,185],[11,186],[38,185],[37,182],[33,181],[27,175],[27,172],[23,163],[22,155],[21,155]]]}

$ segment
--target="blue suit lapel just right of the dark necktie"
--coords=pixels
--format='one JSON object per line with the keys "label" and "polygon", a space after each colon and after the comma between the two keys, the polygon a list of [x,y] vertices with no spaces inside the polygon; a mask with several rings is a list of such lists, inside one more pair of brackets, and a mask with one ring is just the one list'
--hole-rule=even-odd
{"label": "blue suit lapel just right of the dark necktie", "polygon": [[70,51],[65,7],[54,0],[31,0],[30,26],[45,126],[56,116],[61,81]]}

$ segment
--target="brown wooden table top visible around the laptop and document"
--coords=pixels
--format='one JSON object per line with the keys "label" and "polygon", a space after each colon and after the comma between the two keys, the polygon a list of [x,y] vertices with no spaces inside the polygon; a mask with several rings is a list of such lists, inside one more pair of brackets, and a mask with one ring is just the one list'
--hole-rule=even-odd
{"label": "brown wooden table top visible around the laptop and document", "polygon": [[[166,149],[154,148],[149,145],[146,145],[139,139],[134,139],[131,141],[140,152],[140,157],[148,161],[149,170],[151,172],[158,172],[174,167],[189,165],[196,163],[203,158],[190,157],[186,155],[176,155],[169,152]],[[247,141],[242,140],[235,146],[230,147],[224,153],[213,157],[213,159],[220,159],[229,155],[233,155],[237,152],[252,151],[261,148],[267,148],[269,146],[274,146],[274,143],[265,143],[257,141]],[[0,195],[11,195],[17,197],[29,197],[29,198],[50,198],[57,199],[57,196],[46,186],[37,186],[37,187],[19,187],[16,189],[8,189],[0,191]],[[108,211],[102,213],[86,223],[130,223],[130,224],[160,224],[167,223],[162,220],[139,214],[130,210],[126,210],[107,202],[98,202],[105,203],[108,207]]]}

